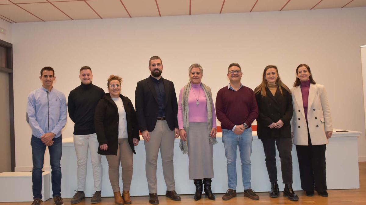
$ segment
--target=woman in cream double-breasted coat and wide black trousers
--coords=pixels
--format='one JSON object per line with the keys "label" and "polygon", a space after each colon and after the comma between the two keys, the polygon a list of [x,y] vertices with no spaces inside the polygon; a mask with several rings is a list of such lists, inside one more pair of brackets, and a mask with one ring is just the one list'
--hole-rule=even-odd
{"label": "woman in cream double-breasted coat and wide black trousers", "polygon": [[291,89],[294,115],[291,131],[299,161],[301,188],[306,196],[314,190],[328,197],[325,176],[325,149],[332,136],[332,118],[324,85],[313,80],[310,67],[300,64]]}

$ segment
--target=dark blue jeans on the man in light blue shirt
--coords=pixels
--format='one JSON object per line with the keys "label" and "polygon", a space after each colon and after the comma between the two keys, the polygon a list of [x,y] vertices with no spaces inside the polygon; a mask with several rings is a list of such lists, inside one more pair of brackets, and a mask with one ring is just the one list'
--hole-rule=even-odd
{"label": "dark blue jeans on the man in light blue shirt", "polygon": [[[52,183],[52,196],[61,196],[61,154],[62,154],[62,135],[58,138],[53,138],[52,146],[48,146],[49,159],[51,165],[51,183]],[[46,151],[46,145],[32,135],[30,140],[32,146],[32,182],[33,182],[33,199],[42,199],[42,168]]]}

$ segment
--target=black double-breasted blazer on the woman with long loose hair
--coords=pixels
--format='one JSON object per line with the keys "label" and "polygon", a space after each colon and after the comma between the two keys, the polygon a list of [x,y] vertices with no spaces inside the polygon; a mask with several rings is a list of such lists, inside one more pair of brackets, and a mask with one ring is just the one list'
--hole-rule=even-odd
{"label": "black double-breasted blazer on the woman with long loose hair", "polygon": [[[257,99],[259,115],[257,119],[257,135],[259,139],[268,138],[291,138],[290,120],[294,111],[292,96],[286,89],[282,88],[282,95],[277,89],[275,96],[266,88],[266,97],[261,92],[255,94]],[[269,128],[268,125],[283,121],[283,127]]]}

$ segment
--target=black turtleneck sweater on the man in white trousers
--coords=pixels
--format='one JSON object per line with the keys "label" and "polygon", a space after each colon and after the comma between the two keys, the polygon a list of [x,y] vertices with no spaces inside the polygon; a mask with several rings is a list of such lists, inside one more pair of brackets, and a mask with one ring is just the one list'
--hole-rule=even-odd
{"label": "black turtleneck sweater on the man in white trousers", "polygon": [[74,135],[89,135],[95,133],[94,112],[97,104],[105,95],[104,90],[90,83],[82,84],[71,90],[67,108],[69,116],[74,121]]}

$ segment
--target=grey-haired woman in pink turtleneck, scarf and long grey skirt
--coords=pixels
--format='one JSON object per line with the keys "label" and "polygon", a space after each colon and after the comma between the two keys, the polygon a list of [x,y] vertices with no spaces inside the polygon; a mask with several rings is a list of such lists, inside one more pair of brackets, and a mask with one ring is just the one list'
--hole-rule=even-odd
{"label": "grey-haired woman in pink turtleneck, scarf and long grey skirt", "polygon": [[196,186],[194,200],[200,200],[202,179],[206,196],[215,200],[211,190],[213,178],[213,144],[216,144],[216,114],[211,89],[201,82],[202,66],[188,69],[190,81],[179,94],[178,126],[183,154],[188,154],[188,175]]}

